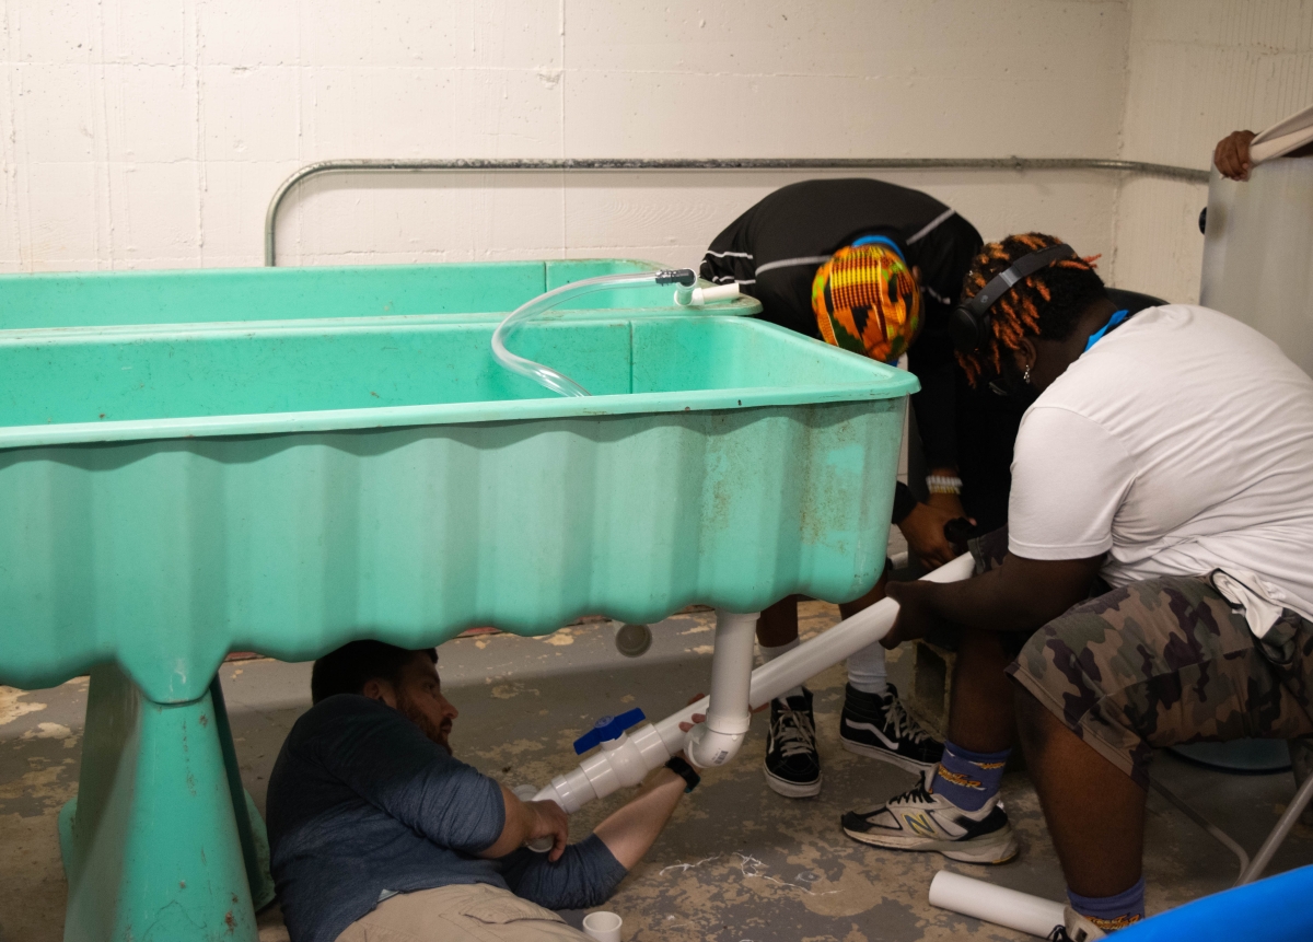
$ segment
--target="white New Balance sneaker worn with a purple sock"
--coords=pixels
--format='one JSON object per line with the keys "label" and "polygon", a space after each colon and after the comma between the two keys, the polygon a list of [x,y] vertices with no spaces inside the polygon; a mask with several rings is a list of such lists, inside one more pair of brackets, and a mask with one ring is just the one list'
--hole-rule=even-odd
{"label": "white New Balance sneaker worn with a purple sock", "polygon": [[964,811],[928,791],[924,779],[878,808],[850,811],[843,832],[877,848],[935,850],[964,863],[1006,863],[1016,857],[1016,838],[998,795],[979,811]]}

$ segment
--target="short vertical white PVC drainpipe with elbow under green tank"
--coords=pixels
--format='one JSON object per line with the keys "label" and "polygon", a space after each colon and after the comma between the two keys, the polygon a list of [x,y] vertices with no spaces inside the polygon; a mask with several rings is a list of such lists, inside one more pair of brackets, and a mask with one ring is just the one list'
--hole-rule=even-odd
{"label": "short vertical white PVC drainpipe with elbow under green tank", "polygon": [[752,724],[748,693],[752,686],[756,619],[756,611],[741,615],[716,610],[716,655],[706,722],[689,729],[684,741],[684,754],[699,769],[725,765],[734,758]]}

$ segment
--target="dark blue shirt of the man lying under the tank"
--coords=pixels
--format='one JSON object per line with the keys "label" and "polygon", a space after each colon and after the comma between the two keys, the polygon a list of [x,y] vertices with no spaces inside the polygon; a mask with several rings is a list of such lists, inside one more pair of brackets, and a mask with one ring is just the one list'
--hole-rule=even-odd
{"label": "dark blue shirt of the man lying under the tank", "polygon": [[506,824],[496,782],[386,703],[343,694],[288,735],[269,777],[272,869],[293,942],[334,942],[383,892],[503,887],[550,909],[605,900],[625,869],[596,836],[551,863],[474,857]]}

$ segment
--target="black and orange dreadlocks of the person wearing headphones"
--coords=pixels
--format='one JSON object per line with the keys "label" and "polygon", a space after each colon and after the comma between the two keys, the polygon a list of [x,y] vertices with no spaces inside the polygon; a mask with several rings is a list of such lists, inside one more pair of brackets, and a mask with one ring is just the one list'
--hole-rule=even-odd
{"label": "black and orange dreadlocks of the person wearing headphones", "polygon": [[[1024,255],[1036,252],[1062,240],[1040,232],[1008,236],[991,241],[972,260],[962,282],[962,300],[974,298],[990,278],[1007,269]],[[999,375],[1012,370],[1007,350],[1022,345],[1023,337],[1039,336],[1046,340],[1065,340],[1075,328],[1075,321],[1092,302],[1104,295],[1103,279],[1094,272],[1094,260],[1062,258],[1043,268],[1012,286],[990,307],[989,336],[981,349],[957,354],[957,362],[966,378],[976,386],[983,375]]]}

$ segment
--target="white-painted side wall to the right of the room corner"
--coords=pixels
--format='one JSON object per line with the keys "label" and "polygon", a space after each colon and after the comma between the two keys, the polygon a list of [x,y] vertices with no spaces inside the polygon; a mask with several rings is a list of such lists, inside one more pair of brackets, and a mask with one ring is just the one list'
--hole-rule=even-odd
{"label": "white-painted side wall to the right of the room corner", "polygon": [[[1208,169],[1230,131],[1313,104],[1309,0],[1132,0],[1121,156]],[[1130,178],[1116,214],[1113,281],[1199,298],[1205,184]]]}

